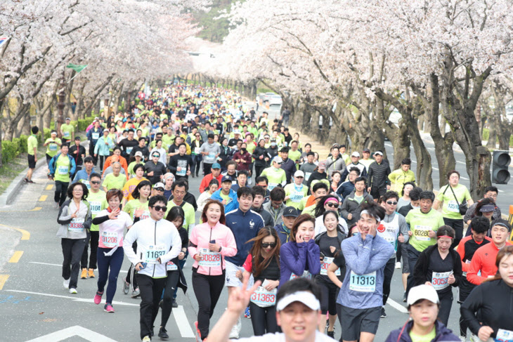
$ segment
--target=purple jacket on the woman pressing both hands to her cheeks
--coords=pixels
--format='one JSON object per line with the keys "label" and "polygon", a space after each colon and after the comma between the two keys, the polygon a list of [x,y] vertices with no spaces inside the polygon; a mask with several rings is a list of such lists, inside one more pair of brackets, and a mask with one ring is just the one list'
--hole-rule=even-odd
{"label": "purple jacket on the woman pressing both hands to her cheeks", "polygon": [[302,276],[308,270],[313,277],[320,272],[320,250],[314,239],[309,242],[294,241],[283,244],[280,248],[280,284],[278,289],[290,280],[292,273]]}

